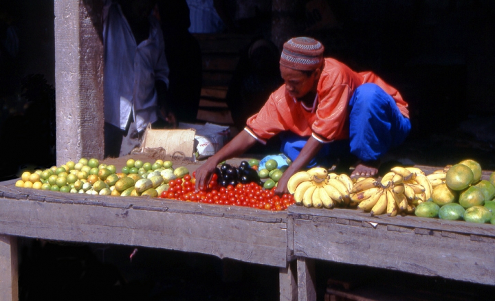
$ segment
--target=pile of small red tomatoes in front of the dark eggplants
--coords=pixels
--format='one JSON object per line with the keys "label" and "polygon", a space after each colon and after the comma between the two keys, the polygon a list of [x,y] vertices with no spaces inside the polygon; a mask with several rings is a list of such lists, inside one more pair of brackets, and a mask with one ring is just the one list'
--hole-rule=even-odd
{"label": "pile of small red tomatoes in front of the dark eggplants", "polygon": [[217,175],[213,175],[208,188],[195,192],[195,179],[185,175],[182,179],[168,182],[168,190],[159,195],[162,199],[176,199],[199,203],[236,205],[263,210],[281,211],[294,203],[292,194],[282,197],[274,194],[273,190],[265,189],[258,183],[237,183],[236,186],[220,186]]}

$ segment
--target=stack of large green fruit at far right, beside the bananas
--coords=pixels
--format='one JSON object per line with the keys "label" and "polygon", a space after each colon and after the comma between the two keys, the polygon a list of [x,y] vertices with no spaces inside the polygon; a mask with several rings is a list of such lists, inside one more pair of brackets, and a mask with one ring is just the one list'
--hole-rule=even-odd
{"label": "stack of large green fruit at far right, beside the bananas", "polygon": [[[465,159],[445,170],[441,181],[432,182],[431,201],[418,205],[415,214],[495,224],[495,172],[489,180],[481,179],[481,166],[473,159]],[[430,179],[440,176],[441,172],[429,175]]]}

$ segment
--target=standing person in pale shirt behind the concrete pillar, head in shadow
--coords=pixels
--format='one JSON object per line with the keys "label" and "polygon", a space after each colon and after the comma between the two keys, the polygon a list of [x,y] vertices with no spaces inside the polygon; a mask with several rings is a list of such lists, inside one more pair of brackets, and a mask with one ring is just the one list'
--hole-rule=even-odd
{"label": "standing person in pale shirt behind the concrete pillar, head in shadow", "polygon": [[109,1],[103,10],[105,157],[129,155],[148,124],[175,127],[168,109],[168,64],[155,0]]}

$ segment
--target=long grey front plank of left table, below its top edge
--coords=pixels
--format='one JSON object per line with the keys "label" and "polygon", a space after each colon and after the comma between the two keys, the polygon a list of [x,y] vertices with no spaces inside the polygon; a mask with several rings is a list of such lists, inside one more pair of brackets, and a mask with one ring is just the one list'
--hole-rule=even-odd
{"label": "long grey front plank of left table, below its top edge", "polygon": [[174,249],[276,267],[287,262],[282,222],[15,199],[1,204],[4,234]]}

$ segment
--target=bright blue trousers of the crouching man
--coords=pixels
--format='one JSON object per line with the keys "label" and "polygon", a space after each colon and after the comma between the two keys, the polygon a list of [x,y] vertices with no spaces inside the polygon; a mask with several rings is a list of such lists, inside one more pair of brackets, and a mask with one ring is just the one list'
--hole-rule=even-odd
{"label": "bright blue trousers of the crouching man", "polygon": [[[349,100],[349,140],[324,144],[307,167],[329,167],[351,155],[365,162],[379,159],[404,142],[410,128],[410,120],[400,113],[392,96],[373,83],[361,85]],[[281,152],[292,161],[308,140],[289,131],[280,138]]]}

